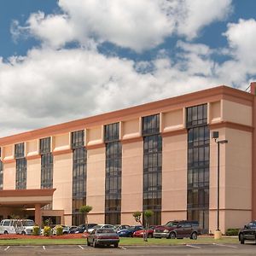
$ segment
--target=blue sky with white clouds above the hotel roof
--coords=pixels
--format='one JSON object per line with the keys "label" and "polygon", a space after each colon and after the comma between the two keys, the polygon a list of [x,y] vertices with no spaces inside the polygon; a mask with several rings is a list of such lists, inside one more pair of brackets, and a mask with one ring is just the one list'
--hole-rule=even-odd
{"label": "blue sky with white clouds above the hotel roof", "polygon": [[256,81],[254,0],[1,0],[0,137]]}

